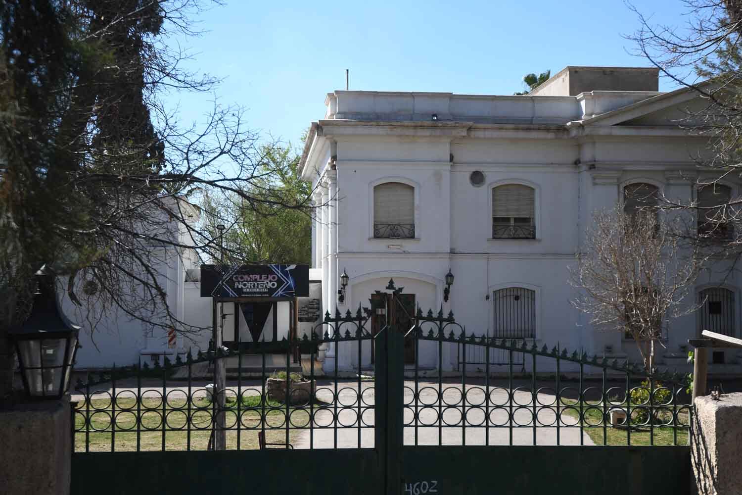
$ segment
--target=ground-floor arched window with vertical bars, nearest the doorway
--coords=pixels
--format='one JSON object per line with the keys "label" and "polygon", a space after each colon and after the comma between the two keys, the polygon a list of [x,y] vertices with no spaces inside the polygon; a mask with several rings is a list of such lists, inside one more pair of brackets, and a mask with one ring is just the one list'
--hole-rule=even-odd
{"label": "ground-floor arched window with vertical bars, nearest the doorway", "polygon": [[493,337],[535,338],[536,291],[508,287],[493,292]]}

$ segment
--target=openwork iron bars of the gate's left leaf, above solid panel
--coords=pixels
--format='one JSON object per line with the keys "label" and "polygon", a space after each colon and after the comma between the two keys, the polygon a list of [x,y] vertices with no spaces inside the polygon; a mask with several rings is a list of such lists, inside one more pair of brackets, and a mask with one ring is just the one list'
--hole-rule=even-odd
{"label": "openwork iron bars of the gate's left leaf, above solid panel", "polygon": [[[355,344],[358,355],[367,353],[372,338],[367,321],[360,308],[355,315],[328,314],[301,339],[252,348],[242,343],[240,352],[189,354],[164,366],[88,376],[73,394],[74,449],[212,450],[218,434],[226,437],[229,450],[341,448],[351,438],[357,440],[354,447],[365,447],[373,436],[372,430],[367,433],[373,428],[372,382],[361,374],[344,378],[337,359],[334,369],[323,373],[316,358],[327,345]],[[296,349],[308,356],[301,372],[292,367]],[[283,366],[275,366],[277,357]],[[255,358],[257,366],[245,366]],[[220,362],[236,366],[237,373],[223,390],[214,390],[206,382]]]}

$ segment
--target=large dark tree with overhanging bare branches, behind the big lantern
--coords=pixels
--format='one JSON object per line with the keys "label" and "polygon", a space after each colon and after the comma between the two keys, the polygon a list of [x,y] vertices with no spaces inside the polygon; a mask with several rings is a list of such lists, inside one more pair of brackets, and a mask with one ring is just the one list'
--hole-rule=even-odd
{"label": "large dark tree with overhanging bare branches, behind the big lantern", "polygon": [[[12,390],[7,330],[32,301],[33,273],[53,266],[70,299],[93,315],[151,327],[190,327],[170,311],[162,263],[216,258],[209,225],[229,212],[194,206],[208,195],[255,218],[310,210],[286,187],[272,146],[217,103],[202,125],[180,125],[165,91],[217,89],[165,44],[197,35],[200,0],[6,0],[0,4],[0,405]],[[210,217],[213,216],[213,217]],[[240,252],[229,252],[234,260]],[[82,291],[94,282],[98,289]],[[90,287],[91,284],[88,284]]]}

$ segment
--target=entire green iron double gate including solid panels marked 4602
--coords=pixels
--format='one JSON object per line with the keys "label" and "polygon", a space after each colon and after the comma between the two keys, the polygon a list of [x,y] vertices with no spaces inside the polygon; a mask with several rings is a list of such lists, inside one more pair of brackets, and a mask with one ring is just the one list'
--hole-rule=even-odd
{"label": "entire green iron double gate including solid panels marked 4602", "polygon": [[[476,336],[442,311],[398,318],[409,309],[392,281],[387,289],[370,309],[326,315],[293,341],[79,383],[72,493],[689,492],[692,410],[680,377]],[[406,341],[415,349],[407,367]],[[321,373],[315,358],[328,346],[353,355],[359,372],[347,376],[335,358]],[[485,353],[485,370],[447,378],[444,355],[465,359],[472,346]],[[421,350],[437,370],[420,366]],[[489,369],[493,352],[508,355],[505,373]],[[296,355],[308,358],[303,378],[291,374]],[[239,370],[250,361],[257,372],[206,390],[201,376],[221,360]]]}

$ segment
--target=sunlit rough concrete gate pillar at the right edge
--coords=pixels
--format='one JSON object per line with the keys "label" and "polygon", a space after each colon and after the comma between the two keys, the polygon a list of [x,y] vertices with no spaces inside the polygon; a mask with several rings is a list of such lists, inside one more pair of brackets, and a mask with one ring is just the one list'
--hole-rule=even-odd
{"label": "sunlit rough concrete gate pillar at the right edge", "polygon": [[691,426],[692,493],[742,494],[742,393],[694,401]]}

